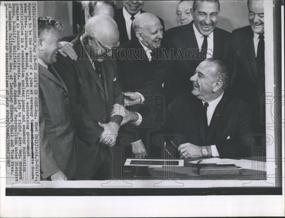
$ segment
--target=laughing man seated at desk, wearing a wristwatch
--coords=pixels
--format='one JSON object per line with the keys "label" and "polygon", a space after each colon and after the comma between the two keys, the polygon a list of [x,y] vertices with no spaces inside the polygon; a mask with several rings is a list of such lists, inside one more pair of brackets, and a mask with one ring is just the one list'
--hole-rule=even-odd
{"label": "laughing man seated at desk, wearing a wristwatch", "polygon": [[204,60],[196,68],[192,95],[180,95],[166,110],[168,134],[181,134],[180,158],[251,156],[243,143],[251,133],[248,105],[227,96],[229,72],[220,60]]}

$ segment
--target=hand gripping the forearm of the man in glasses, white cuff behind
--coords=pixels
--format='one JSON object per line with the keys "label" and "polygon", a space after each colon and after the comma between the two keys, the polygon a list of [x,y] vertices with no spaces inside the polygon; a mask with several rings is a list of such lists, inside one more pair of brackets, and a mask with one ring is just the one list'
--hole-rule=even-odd
{"label": "hand gripping the forearm of the man in glasses, white cuff behind", "polygon": [[137,113],[128,111],[123,105],[121,104],[114,104],[110,117],[113,117],[115,115],[119,115],[123,117],[123,121],[121,122],[121,125],[124,125],[125,123],[132,122],[135,123],[139,116]]}

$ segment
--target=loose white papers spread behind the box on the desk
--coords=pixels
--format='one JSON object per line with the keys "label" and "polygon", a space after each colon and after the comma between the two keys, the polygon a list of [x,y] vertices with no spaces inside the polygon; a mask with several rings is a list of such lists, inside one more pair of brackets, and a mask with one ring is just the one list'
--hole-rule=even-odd
{"label": "loose white papers spread behind the box on the desk", "polygon": [[[199,160],[189,161],[189,163],[197,164]],[[261,171],[266,171],[266,164],[262,161],[254,161],[254,160],[234,160],[234,159],[220,159],[220,158],[209,158],[203,159],[201,163],[217,163],[217,164],[235,164],[240,169],[258,169]]]}

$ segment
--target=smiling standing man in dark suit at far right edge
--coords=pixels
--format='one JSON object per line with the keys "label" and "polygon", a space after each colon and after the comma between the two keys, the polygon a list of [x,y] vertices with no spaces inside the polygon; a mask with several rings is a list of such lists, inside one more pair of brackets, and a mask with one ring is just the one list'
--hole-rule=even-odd
{"label": "smiling standing man in dark suit at far right edge", "polygon": [[261,104],[265,92],[263,1],[248,1],[248,9],[250,26],[232,33],[235,68],[231,94],[251,106],[255,133],[265,134],[265,124],[261,123],[265,121],[265,105]]}

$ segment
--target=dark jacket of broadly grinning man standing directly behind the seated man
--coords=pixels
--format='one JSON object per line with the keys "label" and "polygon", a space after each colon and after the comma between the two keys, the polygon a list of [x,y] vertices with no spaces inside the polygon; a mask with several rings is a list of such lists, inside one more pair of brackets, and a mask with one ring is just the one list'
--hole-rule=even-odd
{"label": "dark jacket of broadly grinning man standing directly behind the seated man", "polygon": [[[160,54],[161,60],[156,60],[150,68],[150,72],[165,72],[169,75],[168,81],[164,83],[169,100],[176,94],[185,90],[191,92],[193,88],[190,77],[195,74],[196,67],[203,61],[196,55],[198,43],[193,29],[194,21],[189,24],[177,26],[166,31],[163,35],[161,48],[167,53],[173,52],[170,57]],[[213,58],[222,60],[233,67],[231,33],[215,28]],[[187,50],[188,49],[188,50]],[[185,55],[186,53],[186,55]],[[182,54],[182,58],[175,58],[177,54]],[[172,59],[171,56],[174,58]]]}

